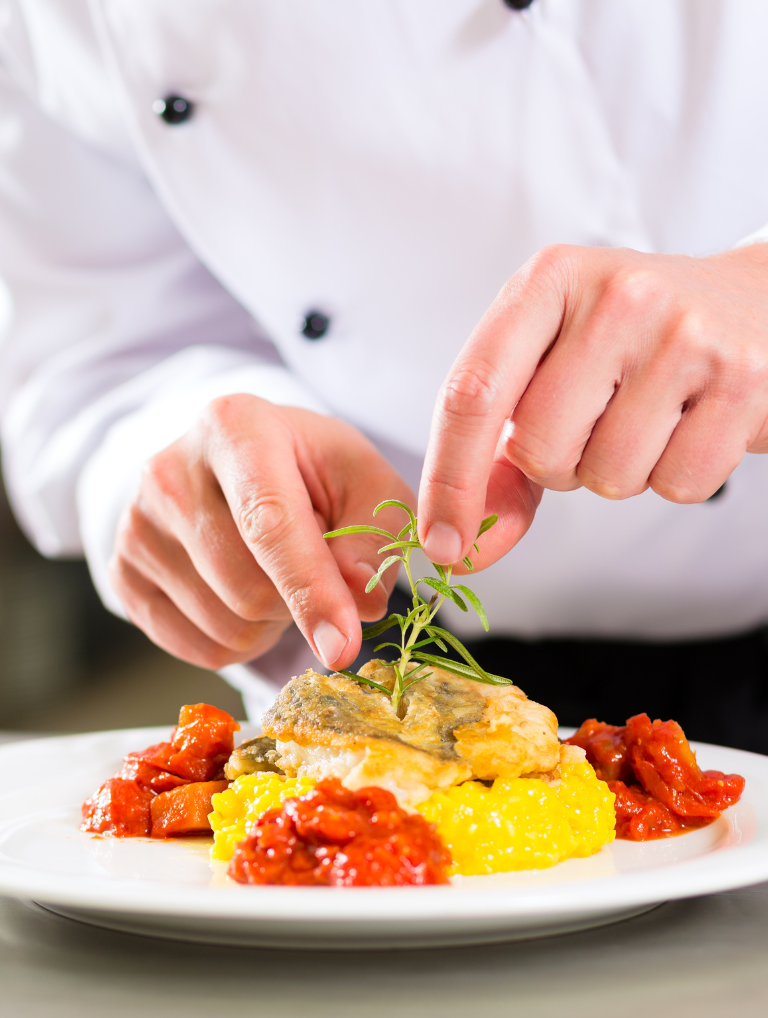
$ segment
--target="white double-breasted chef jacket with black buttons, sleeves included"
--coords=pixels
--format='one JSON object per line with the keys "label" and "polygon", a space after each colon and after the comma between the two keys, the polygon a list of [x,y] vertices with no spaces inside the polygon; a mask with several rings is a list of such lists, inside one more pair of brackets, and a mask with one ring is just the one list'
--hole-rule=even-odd
{"label": "white double-breasted chef jacket with black buttons, sleeves included", "polygon": [[[417,485],[440,383],[539,247],[768,238],[767,44],[764,0],[0,0],[0,412],[28,533],[85,551],[121,611],[106,563],[141,465],[225,393],[343,417]],[[702,505],[548,492],[474,583],[496,634],[745,630],[768,620],[767,504],[751,455]]]}

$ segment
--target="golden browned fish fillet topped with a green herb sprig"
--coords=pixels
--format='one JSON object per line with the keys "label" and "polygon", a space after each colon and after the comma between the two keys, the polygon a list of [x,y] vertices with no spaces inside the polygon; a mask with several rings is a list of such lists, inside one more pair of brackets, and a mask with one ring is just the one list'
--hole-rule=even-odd
{"label": "golden browned fish fillet topped with a green herb sprig", "polygon": [[[392,688],[394,670],[361,675]],[[283,687],[263,719],[290,777],[378,785],[413,808],[437,788],[470,778],[518,778],[559,761],[557,719],[516,686],[487,686],[440,668],[407,690],[402,717],[371,686],[307,671]]]}

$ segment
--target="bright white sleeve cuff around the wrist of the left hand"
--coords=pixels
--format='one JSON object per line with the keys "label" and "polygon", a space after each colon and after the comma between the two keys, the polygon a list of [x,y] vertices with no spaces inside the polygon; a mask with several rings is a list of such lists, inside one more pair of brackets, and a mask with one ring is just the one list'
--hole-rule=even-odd
{"label": "bright white sleeve cuff around the wrist of the left hand", "polygon": [[109,429],[77,483],[79,526],[91,575],[104,604],[122,618],[125,611],[109,583],[107,566],[118,521],[148,459],[187,432],[204,407],[219,396],[244,392],[278,405],[330,412],[280,365],[256,362],[222,372],[215,348],[206,347],[184,350],[170,360],[177,362],[170,373],[175,383]]}

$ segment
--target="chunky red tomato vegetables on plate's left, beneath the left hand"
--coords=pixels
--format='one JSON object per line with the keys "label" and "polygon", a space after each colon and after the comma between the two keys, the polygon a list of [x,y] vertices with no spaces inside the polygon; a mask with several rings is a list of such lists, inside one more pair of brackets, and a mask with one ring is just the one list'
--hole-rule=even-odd
{"label": "chunky red tomato vegetables on plate's left, beneath the left hand", "polygon": [[[80,831],[113,838],[164,838],[210,830],[207,814],[202,826],[201,810],[206,800],[210,805],[213,781],[219,779],[215,791],[226,787],[223,768],[239,727],[225,711],[208,703],[182,706],[169,742],[128,753],[115,777],[84,803]],[[188,792],[173,800],[172,821],[166,824],[165,811],[157,806],[153,810],[153,801],[182,787]],[[154,828],[153,811],[161,817]]]}

